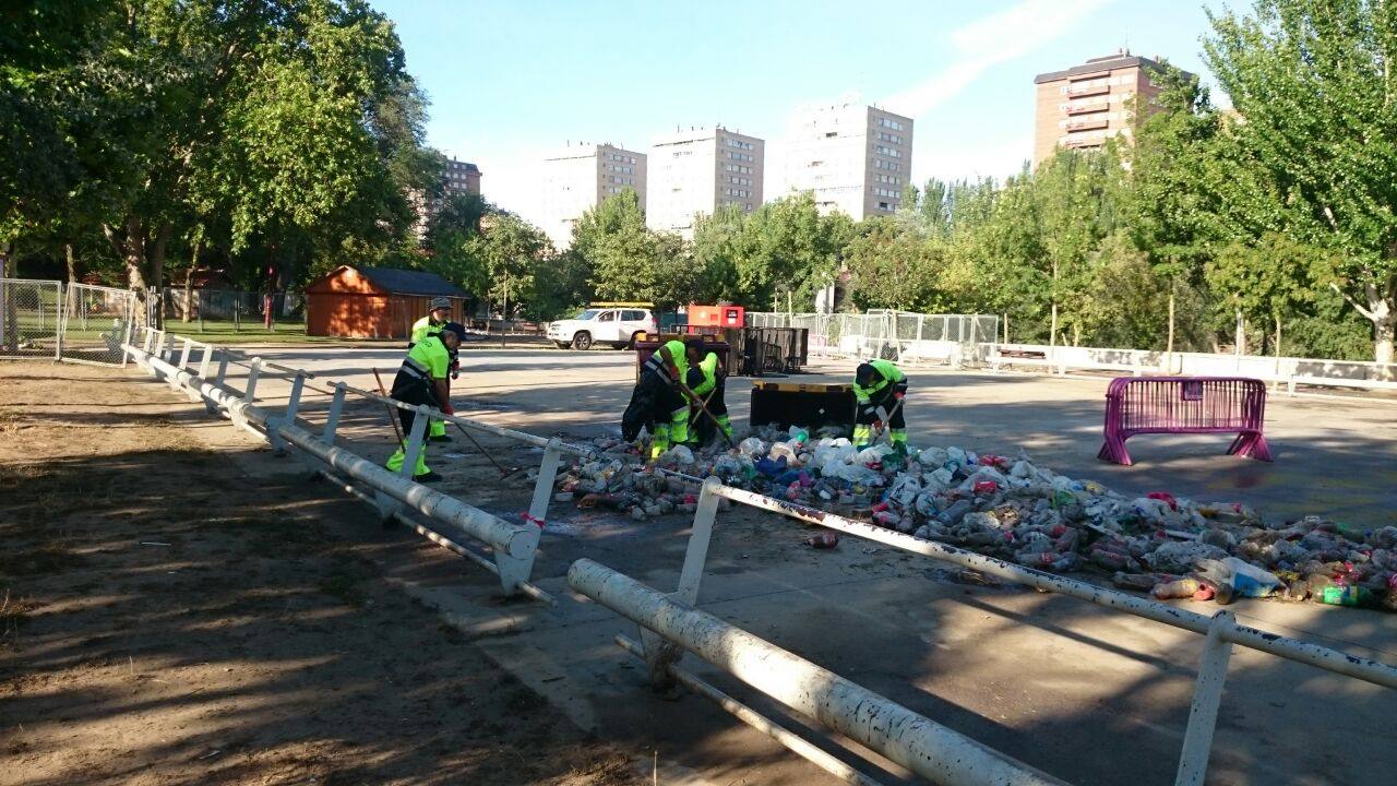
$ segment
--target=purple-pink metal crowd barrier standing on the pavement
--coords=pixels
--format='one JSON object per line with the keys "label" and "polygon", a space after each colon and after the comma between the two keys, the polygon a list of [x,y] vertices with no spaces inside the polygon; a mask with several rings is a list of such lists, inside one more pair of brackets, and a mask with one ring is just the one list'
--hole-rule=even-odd
{"label": "purple-pink metal crowd barrier standing on the pavement", "polygon": [[1271,460],[1261,428],[1266,385],[1239,376],[1123,376],[1106,390],[1106,441],[1098,459],[1132,464],[1137,434],[1236,434],[1228,453]]}

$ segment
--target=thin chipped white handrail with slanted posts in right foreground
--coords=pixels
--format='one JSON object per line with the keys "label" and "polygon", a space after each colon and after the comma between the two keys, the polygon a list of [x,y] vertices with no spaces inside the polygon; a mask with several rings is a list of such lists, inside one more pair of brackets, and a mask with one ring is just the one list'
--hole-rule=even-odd
{"label": "thin chipped white handrail with slanted posts in right foreground", "polygon": [[[1213,617],[1206,617],[1153,599],[1141,599],[1087,582],[1034,571],[974,551],[855,522],[834,513],[784,499],[774,499],[752,491],[732,488],[719,483],[718,478],[704,481],[694,513],[693,530],[689,537],[689,547],[685,552],[683,568],[679,575],[679,589],[671,596],[686,607],[694,607],[698,603],[698,587],[708,558],[708,544],[712,538],[719,498],[780,513],[809,524],[873,540],[912,554],[930,557],[932,559],[972,568],[1039,590],[1055,592],[1098,606],[1118,608],[1136,617],[1203,635],[1203,660],[1199,666],[1189,726],[1185,731],[1183,750],[1179,755],[1179,769],[1175,778],[1176,786],[1199,786],[1204,780],[1208,754],[1213,747],[1213,733],[1217,724],[1217,712],[1222,699],[1222,685],[1227,681],[1227,663],[1234,645],[1397,689],[1397,667],[1323,648],[1312,642],[1239,625],[1229,611],[1218,611]],[[648,645],[650,642],[647,642],[645,652],[651,653]]]}

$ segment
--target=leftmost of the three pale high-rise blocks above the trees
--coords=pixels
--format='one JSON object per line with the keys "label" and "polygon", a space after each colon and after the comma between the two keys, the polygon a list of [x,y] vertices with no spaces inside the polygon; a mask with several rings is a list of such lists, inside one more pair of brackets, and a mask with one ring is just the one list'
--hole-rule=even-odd
{"label": "leftmost of the three pale high-rise blocks above the trees", "polygon": [[573,224],[612,194],[634,189],[645,207],[645,154],[612,144],[569,145],[543,158],[541,228],[553,246],[573,242]]}

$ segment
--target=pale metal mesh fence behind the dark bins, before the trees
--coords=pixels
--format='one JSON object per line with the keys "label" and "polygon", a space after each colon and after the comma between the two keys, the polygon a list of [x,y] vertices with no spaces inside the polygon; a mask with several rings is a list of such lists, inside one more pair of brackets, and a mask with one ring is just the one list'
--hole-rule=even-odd
{"label": "pale metal mesh fence behind the dark bins, before the trees", "polygon": [[960,364],[975,345],[995,343],[999,317],[967,313],[766,313],[747,312],[750,327],[803,327],[812,355]]}

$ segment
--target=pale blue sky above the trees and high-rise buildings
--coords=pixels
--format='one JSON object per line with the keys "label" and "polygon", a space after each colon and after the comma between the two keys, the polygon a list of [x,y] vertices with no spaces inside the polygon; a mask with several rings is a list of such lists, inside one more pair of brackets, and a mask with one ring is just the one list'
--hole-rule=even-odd
{"label": "pale blue sky above the trees and high-rise buildings", "polygon": [[1207,77],[1197,0],[372,1],[432,101],[429,143],[525,215],[567,141],[647,151],[722,123],[768,141],[770,199],[792,108],[858,95],[912,116],[918,182],[1003,176],[1031,155],[1038,73],[1129,46]]}

